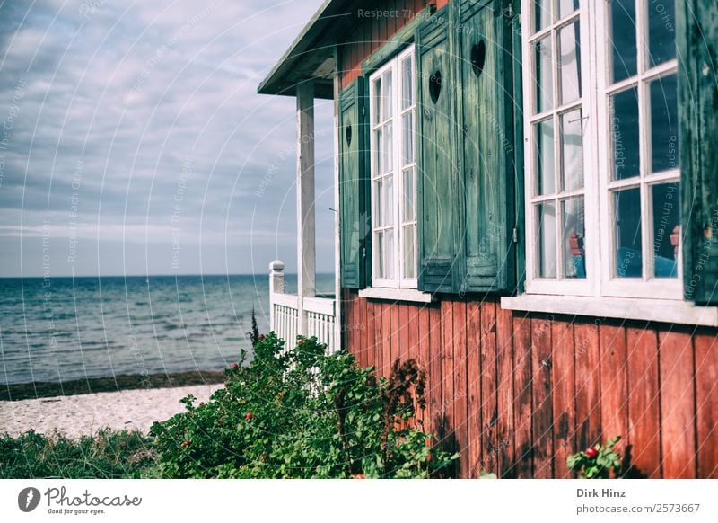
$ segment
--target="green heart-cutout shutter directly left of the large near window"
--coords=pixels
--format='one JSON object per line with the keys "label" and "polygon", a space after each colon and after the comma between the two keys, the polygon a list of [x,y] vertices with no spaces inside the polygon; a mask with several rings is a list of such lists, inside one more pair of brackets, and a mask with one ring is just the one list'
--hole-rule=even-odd
{"label": "green heart-cutout shutter directly left of the large near window", "polygon": [[460,290],[512,288],[512,35],[500,0],[456,2]]}

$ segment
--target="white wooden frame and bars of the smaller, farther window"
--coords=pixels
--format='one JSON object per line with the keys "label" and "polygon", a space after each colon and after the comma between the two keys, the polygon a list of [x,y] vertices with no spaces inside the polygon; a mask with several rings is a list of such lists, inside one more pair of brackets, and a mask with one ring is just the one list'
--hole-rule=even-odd
{"label": "white wooden frame and bars of the smaller, farther window", "polygon": [[[407,107],[406,109],[401,109],[401,93],[402,93],[402,82],[403,77],[401,75],[401,63],[404,61],[405,58],[409,57],[411,59],[411,67],[412,67],[412,85],[411,85],[411,92],[412,92],[412,104]],[[374,288],[406,288],[406,289],[416,289],[418,285],[418,245],[416,241],[416,227],[418,226],[416,222],[416,82],[414,81],[416,78],[416,55],[415,55],[415,49],[414,45],[409,45],[407,49],[403,49],[401,52],[399,52],[395,57],[390,58],[388,62],[386,62],[384,65],[379,67],[376,71],[372,73],[372,75],[369,76],[369,132],[370,132],[370,172],[371,172],[371,191],[370,191],[370,198],[371,198],[371,205],[372,205],[372,217],[378,216],[377,208],[379,199],[376,194],[376,188],[374,179],[376,177],[376,151],[377,144],[375,143],[375,129],[379,129],[382,125],[385,125],[390,120],[384,120],[383,122],[379,122],[378,124],[374,123],[374,114],[377,111],[376,100],[374,97],[374,83],[376,82],[377,78],[380,78],[381,75],[386,73],[387,71],[392,71],[392,85],[391,85],[391,104],[392,104],[392,110],[391,110],[391,126],[392,126],[392,157],[393,157],[393,165],[392,165],[392,174],[393,177],[393,221],[392,226],[394,230],[394,255],[393,255],[393,272],[394,272],[394,278],[379,278],[377,276],[377,268],[379,267],[379,250],[377,249],[377,242],[375,241],[375,221],[372,219],[372,287]],[[414,147],[413,151],[413,158],[414,162],[413,164],[407,164],[407,165],[401,165],[401,149],[400,149],[400,142],[402,139],[402,132],[403,129],[401,129],[401,117],[406,114],[409,111],[414,111],[414,137],[412,140],[412,144]],[[412,195],[412,201],[414,206],[414,220],[412,221],[404,221],[404,184],[402,179],[402,174],[405,170],[408,168],[414,169],[414,194]],[[413,224],[413,230],[414,230],[414,238],[413,238],[413,245],[414,245],[414,278],[405,278],[404,277],[404,226],[411,226]],[[382,227],[386,228],[386,227]]]}

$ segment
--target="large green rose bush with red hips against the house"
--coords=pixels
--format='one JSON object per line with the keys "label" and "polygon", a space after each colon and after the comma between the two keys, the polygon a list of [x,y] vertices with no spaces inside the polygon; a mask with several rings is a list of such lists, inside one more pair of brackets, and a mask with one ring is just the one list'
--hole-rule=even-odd
{"label": "large green rose bush with red hips against the house", "polygon": [[394,363],[389,379],[359,368],[346,352],[327,354],[314,338],[287,350],[259,336],[254,358],[227,370],[209,403],[155,423],[150,435],[162,477],[429,477],[458,458],[409,429],[423,407],[425,373]]}

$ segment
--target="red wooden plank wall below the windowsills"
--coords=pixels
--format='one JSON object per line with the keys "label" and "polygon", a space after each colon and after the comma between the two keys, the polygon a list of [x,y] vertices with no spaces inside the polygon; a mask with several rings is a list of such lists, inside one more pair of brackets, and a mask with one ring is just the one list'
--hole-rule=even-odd
{"label": "red wooden plank wall below the windowsills", "polygon": [[343,297],[343,346],[362,365],[426,369],[420,417],[460,451],[462,477],[574,477],[566,457],[620,434],[632,477],[718,478],[714,329]]}

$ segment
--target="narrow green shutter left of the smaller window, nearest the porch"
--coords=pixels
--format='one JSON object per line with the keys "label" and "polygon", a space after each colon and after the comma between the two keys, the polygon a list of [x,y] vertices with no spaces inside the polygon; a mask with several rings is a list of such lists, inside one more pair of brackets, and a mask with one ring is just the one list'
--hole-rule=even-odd
{"label": "narrow green shutter left of the smaller window, nearest the porch", "polygon": [[366,198],[363,78],[339,94],[339,244],[341,286],[366,286],[365,256],[371,233]]}

